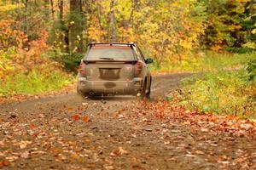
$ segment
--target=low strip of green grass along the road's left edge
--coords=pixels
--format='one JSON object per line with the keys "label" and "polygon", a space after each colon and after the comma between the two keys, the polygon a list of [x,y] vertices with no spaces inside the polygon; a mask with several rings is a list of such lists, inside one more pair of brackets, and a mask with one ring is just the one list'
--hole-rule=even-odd
{"label": "low strip of green grass along the road's left edge", "polygon": [[42,94],[60,89],[73,81],[73,77],[59,69],[34,68],[28,74],[18,72],[0,80],[0,96],[15,94]]}

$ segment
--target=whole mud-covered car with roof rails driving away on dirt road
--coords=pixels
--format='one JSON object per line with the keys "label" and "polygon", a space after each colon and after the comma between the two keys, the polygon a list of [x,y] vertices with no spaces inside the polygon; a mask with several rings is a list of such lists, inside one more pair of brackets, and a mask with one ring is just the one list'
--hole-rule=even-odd
{"label": "whole mud-covered car with roof rails driving away on dirt road", "polygon": [[152,77],[140,48],[131,43],[90,43],[79,65],[77,91],[84,96],[150,97]]}

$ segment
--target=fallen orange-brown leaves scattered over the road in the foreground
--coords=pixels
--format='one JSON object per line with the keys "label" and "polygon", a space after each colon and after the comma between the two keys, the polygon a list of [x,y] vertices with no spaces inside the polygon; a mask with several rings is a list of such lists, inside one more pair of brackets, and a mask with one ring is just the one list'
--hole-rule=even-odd
{"label": "fallen orange-brown leaves scattered over the road in the foreground", "polygon": [[0,167],[37,162],[38,157],[48,163],[65,162],[70,168],[99,169],[124,168],[120,160],[144,169],[150,163],[157,165],[155,161],[161,162],[161,169],[186,161],[195,168],[246,169],[256,163],[255,152],[249,150],[254,147],[248,143],[252,140],[247,139],[255,136],[253,122],[201,115],[173,104],[173,99],[105,104],[73,100],[57,106],[38,105],[42,110],[32,108],[28,113],[21,107],[16,113],[19,122],[1,115]]}

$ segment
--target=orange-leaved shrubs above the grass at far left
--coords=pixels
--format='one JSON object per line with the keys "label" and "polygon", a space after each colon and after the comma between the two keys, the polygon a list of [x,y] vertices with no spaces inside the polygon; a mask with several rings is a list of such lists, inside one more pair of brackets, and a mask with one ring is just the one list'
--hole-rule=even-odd
{"label": "orange-leaved shrubs above the grass at far left", "polygon": [[0,20],[0,77],[4,79],[18,72],[29,73],[35,67],[39,70],[62,68],[49,57],[44,56],[50,47],[47,44],[48,32],[40,31],[39,38],[28,42],[26,34],[15,28],[15,20]]}

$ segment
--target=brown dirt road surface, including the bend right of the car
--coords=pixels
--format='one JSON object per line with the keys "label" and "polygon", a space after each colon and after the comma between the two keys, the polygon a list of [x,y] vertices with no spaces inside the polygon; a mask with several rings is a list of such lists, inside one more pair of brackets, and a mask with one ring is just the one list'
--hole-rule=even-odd
{"label": "brown dirt road surface, including the bend right of the car", "polygon": [[[189,74],[154,77],[152,101]],[[0,105],[3,169],[256,169],[256,144],[160,120],[116,97],[62,94]]]}

